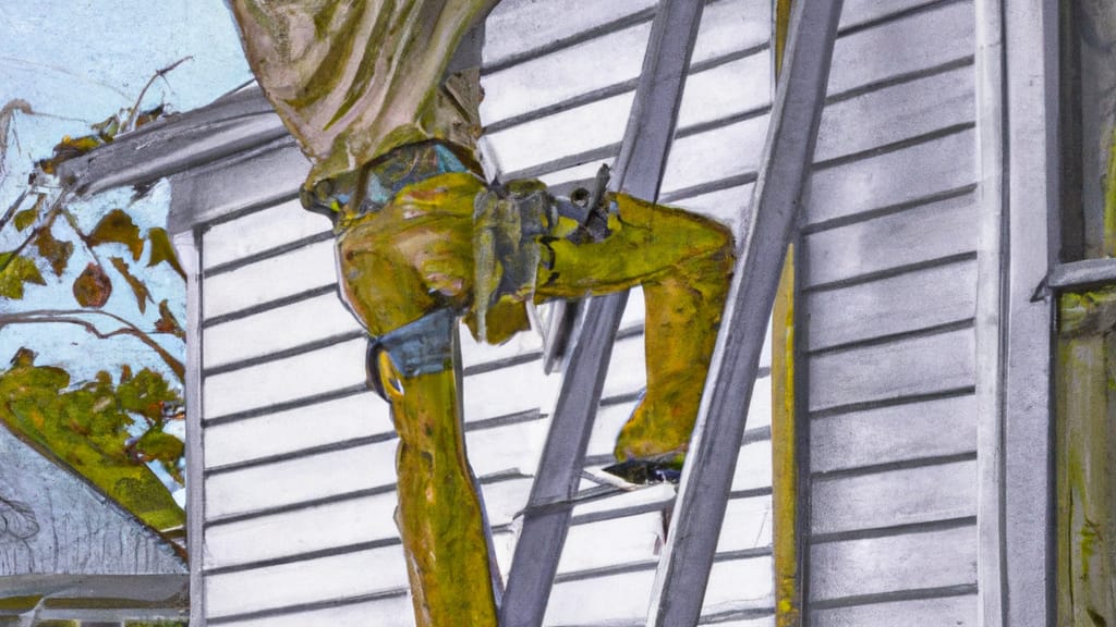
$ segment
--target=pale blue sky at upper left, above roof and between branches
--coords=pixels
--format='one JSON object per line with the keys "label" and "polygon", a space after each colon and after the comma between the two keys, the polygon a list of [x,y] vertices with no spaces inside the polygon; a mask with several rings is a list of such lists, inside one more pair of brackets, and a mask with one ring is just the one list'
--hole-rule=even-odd
{"label": "pale blue sky at upper left, above roof and between branches", "polygon": [[[165,103],[174,110],[190,110],[251,78],[223,0],[4,0],[0,32],[0,104],[18,98],[35,110],[12,120],[0,182],[3,208],[23,189],[33,161],[49,156],[64,135],[85,135],[89,124],[132,106],[160,68],[192,57],[148,90],[145,108]],[[127,197],[126,192],[102,194],[74,211],[88,229]],[[163,224],[167,201],[164,184],[136,208],[141,229]],[[0,240],[0,250],[10,248],[10,241]],[[84,261],[71,266],[64,283]],[[117,283],[106,310],[134,315],[129,290]],[[156,273],[154,283],[153,291],[176,295],[173,308],[181,315],[181,281],[164,272]],[[20,307],[73,306],[52,293],[58,292],[32,287]],[[68,296],[68,290],[61,293]],[[0,309],[12,306],[0,302]],[[75,327],[49,325],[0,330],[0,367],[19,346],[37,350],[40,363],[65,364],[79,377],[107,363],[158,364],[137,341],[97,340]]]}

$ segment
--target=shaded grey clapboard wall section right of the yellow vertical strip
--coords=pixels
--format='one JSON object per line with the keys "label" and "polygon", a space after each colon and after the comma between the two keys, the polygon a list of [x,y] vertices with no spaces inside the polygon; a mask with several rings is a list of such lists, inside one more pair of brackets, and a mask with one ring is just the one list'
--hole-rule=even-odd
{"label": "shaded grey clapboard wall section right of the yellow vertical strip", "polygon": [[973,3],[841,23],[798,249],[809,624],[975,625]]}

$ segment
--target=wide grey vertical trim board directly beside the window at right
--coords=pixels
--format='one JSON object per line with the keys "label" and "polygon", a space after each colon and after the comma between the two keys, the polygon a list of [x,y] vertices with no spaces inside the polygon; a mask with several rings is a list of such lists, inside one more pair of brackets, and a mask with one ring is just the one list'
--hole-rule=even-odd
{"label": "wide grey vertical trim board directly beside the window at right", "polygon": [[[1054,619],[1051,513],[1052,302],[1033,301],[1057,251],[1058,2],[1011,2],[1004,12],[1009,145],[1008,368],[1004,507],[1008,607],[1012,627]],[[1024,10],[1026,9],[1026,10]],[[1036,76],[1036,74],[1039,76]]]}

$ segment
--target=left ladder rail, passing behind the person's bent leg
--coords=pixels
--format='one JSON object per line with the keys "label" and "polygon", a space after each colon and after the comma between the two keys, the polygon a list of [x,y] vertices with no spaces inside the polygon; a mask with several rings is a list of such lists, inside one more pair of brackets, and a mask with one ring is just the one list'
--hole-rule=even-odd
{"label": "left ladder rail, passing behind the person's bent leg", "polygon": [[[661,0],[610,191],[657,200],[704,0]],[[627,292],[589,300],[539,462],[501,606],[504,627],[542,624]]]}

